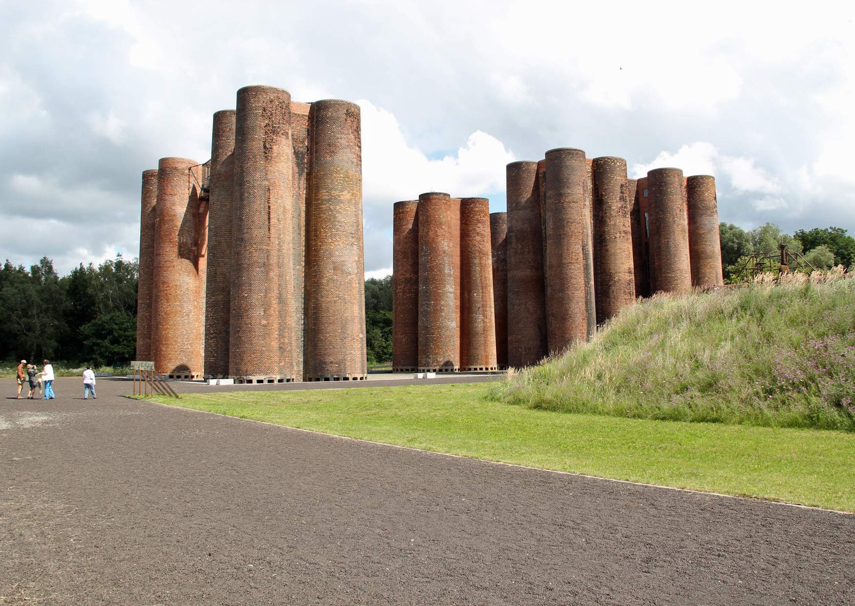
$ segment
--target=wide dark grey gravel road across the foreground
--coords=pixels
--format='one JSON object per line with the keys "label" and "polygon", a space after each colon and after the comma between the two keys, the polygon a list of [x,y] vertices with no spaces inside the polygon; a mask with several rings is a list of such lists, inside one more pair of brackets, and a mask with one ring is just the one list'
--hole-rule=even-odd
{"label": "wide dark grey gravel road across the foreground", "polygon": [[[8,381],[9,384],[12,381]],[[0,603],[855,603],[855,516],[0,400]]]}

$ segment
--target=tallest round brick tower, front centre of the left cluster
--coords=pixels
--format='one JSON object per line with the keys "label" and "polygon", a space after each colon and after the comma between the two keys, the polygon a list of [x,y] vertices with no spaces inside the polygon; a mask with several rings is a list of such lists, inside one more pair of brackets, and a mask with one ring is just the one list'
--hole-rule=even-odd
{"label": "tallest round brick tower, front centre of the left cluster", "polygon": [[229,374],[238,382],[295,379],[292,335],[294,154],[291,95],[274,86],[238,91],[234,134]]}

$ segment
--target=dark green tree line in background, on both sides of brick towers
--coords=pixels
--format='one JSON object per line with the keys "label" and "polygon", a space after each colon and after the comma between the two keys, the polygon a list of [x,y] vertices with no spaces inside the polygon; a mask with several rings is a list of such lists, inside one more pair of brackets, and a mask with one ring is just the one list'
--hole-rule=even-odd
{"label": "dark green tree line in background, on both sides of brick towers", "polygon": [[[855,238],[840,227],[799,230],[773,223],[745,230],[719,227],[726,281],[739,281],[746,256],[775,252],[783,241],[817,269],[855,265]],[[0,269],[0,360],[49,358],[69,364],[124,366],[136,352],[136,259],[121,255],[97,267],[82,263],[59,276],[49,258]],[[392,276],[365,280],[365,338],[369,366],[392,360]]]}

